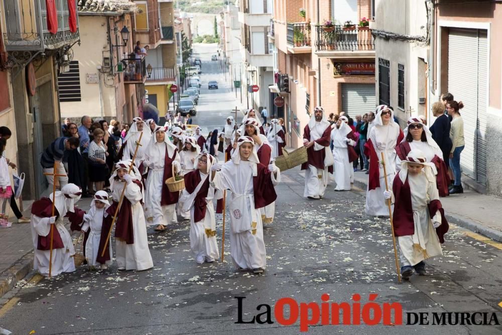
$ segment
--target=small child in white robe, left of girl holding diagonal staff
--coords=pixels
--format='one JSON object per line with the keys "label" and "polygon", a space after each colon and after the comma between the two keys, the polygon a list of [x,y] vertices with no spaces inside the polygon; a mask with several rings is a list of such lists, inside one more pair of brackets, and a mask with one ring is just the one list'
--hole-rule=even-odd
{"label": "small child in white robe, left of girl holding diagonal staff", "polygon": [[[105,191],[97,191],[94,194],[94,198],[91,201],[91,208],[89,212],[84,215],[84,224],[82,225],[82,232],[89,232],[87,241],[85,242],[85,258],[87,260],[87,265],[90,269],[99,266],[102,270],[107,269],[108,265],[111,264],[112,250],[111,250],[111,238],[108,241],[109,250],[109,260],[105,263],[100,263],[96,259],[98,255],[102,252],[99,249],[99,243],[101,241],[101,231],[103,227],[103,220],[109,214],[106,209],[110,206],[108,202],[108,193]],[[108,232],[102,232],[102,234],[107,234]]]}

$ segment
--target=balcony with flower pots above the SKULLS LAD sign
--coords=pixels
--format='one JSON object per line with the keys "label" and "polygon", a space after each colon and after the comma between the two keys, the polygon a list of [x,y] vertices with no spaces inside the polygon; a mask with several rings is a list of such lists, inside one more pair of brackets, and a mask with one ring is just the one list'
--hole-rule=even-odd
{"label": "balcony with flower pots above the SKULLS LAD sign", "polygon": [[316,26],[316,54],[319,57],[372,58],[374,39],[368,27]]}

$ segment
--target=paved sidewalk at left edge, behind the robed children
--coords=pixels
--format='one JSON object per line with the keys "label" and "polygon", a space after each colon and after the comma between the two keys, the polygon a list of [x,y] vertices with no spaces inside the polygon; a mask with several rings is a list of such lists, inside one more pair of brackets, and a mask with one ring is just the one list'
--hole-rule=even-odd
{"label": "paved sidewalk at left edge, behind the robed children", "polygon": [[[77,206],[88,209],[92,198],[82,198]],[[27,202],[24,201],[23,204]],[[30,217],[31,203],[23,211]],[[18,224],[17,218],[10,218],[11,228],[0,229],[0,306],[2,296],[16,286],[33,269],[33,240],[30,224]],[[68,222],[65,220],[65,222]],[[69,224],[67,225],[69,228]]]}

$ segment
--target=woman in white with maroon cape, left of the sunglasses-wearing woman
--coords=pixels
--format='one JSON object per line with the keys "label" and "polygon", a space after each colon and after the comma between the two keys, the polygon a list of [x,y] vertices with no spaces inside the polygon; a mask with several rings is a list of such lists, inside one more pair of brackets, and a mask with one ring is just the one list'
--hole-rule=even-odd
{"label": "woman in white with maroon cape, left of the sunglasses-wearing woman", "polygon": [[375,216],[389,216],[384,198],[385,187],[384,168],[380,163],[384,153],[387,168],[387,179],[391,183],[396,176],[396,147],[404,138],[399,125],[394,122],[394,111],[387,105],[381,104],[375,110],[374,126],[368,133],[368,140],[364,145],[364,154],[369,157],[369,176],[366,191],[365,212]]}

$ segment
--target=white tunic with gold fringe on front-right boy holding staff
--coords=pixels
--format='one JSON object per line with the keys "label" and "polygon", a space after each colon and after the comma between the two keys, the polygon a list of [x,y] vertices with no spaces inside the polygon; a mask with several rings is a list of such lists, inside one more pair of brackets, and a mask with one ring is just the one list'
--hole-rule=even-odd
{"label": "white tunic with gold fringe on front-right boy holding staff", "polygon": [[[408,173],[408,182],[411,191],[415,233],[398,237],[402,266],[413,266],[429,257],[443,255],[427,206],[432,200],[439,199],[436,184],[427,181],[424,173],[420,173],[418,176],[412,176]],[[439,211],[433,217],[433,220],[434,222],[441,222],[441,213]]]}

